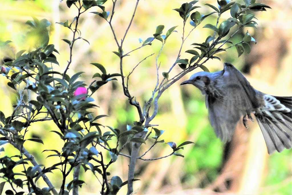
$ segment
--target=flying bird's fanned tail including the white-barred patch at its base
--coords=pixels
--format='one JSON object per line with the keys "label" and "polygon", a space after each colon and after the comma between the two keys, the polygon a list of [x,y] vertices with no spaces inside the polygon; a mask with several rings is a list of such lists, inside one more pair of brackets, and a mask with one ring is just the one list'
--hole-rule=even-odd
{"label": "flying bird's fanned tail including the white-barred patch at its base", "polygon": [[292,146],[292,97],[263,95],[265,104],[255,112],[268,153]]}

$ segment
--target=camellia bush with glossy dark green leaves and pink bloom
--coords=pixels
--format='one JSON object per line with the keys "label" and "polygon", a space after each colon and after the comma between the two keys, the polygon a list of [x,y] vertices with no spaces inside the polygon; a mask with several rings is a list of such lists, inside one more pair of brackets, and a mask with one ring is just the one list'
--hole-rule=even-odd
{"label": "camellia bush with glossy dark green leaves and pink bloom", "polygon": [[[80,170],[92,172],[97,178],[96,189],[93,191],[100,194],[117,194],[119,189],[127,186],[128,194],[133,193],[135,163],[142,160],[157,160],[171,155],[183,157],[180,150],[183,146],[191,144],[191,141],[185,141],[180,144],[169,141],[167,144],[172,148],[172,152],[159,158],[145,159],[144,155],[148,153],[154,145],[163,144],[165,141],[160,138],[163,130],[158,128],[158,124],[152,124],[159,108],[159,98],[173,83],[178,81],[188,72],[200,67],[204,71],[208,68],[204,63],[209,59],[218,59],[218,53],[224,52],[231,47],[236,47],[238,56],[244,52],[250,52],[250,44],[255,42],[254,38],[248,32],[238,42],[232,42],[238,32],[244,27],[255,28],[257,23],[254,21],[255,11],[266,11],[269,6],[256,3],[254,0],[245,0],[239,2],[221,0],[215,5],[205,4],[205,7],[211,7],[212,12],[206,15],[200,13],[203,7],[196,6],[198,1],[183,3],[179,8],[173,8],[177,12],[177,17],[181,18],[182,32],[176,31],[177,26],[170,29],[164,29],[164,25],[158,25],[153,29],[153,34],[149,38],[140,40],[140,45],[131,51],[124,50],[124,40],[135,19],[136,8],[139,6],[139,0],[135,3],[135,9],[130,22],[121,39],[117,38],[117,30],[112,23],[117,8],[117,0],[112,1],[109,8],[103,6],[106,0],[67,0],[62,1],[68,9],[76,11],[76,17],[70,21],[58,22],[63,28],[68,28],[71,32],[71,39],[62,39],[69,48],[69,59],[67,64],[59,64],[56,55],[58,51],[53,44],[49,43],[48,27],[51,23],[47,19],[29,20],[26,22],[30,26],[27,33],[27,41],[32,47],[27,50],[20,50],[16,53],[15,59],[6,61],[1,66],[1,76],[6,77],[8,86],[12,88],[17,96],[17,102],[13,105],[13,112],[4,115],[0,111],[0,134],[1,134],[1,153],[5,153],[5,146],[10,144],[18,151],[18,155],[3,156],[0,158],[2,168],[0,169],[0,194],[3,193],[4,186],[9,189],[6,194],[78,194],[82,184],[89,182],[79,178]],[[218,4],[217,4],[218,3]],[[109,73],[105,66],[98,62],[92,62],[91,65],[97,72],[92,74],[95,80],[91,83],[80,81],[83,72],[77,72],[73,75],[67,73],[72,63],[72,56],[77,55],[73,48],[77,41],[89,42],[81,36],[84,29],[79,29],[79,19],[81,15],[91,8],[92,16],[98,15],[106,20],[112,33],[112,43],[116,44],[116,51],[113,53],[119,58],[120,71],[118,73]],[[92,11],[97,10],[97,11]],[[230,13],[230,18],[221,21],[221,15],[224,12]],[[216,15],[217,20],[213,23],[203,23],[210,15]],[[185,27],[191,25],[192,29],[187,32]],[[192,43],[194,49],[183,51],[183,45],[189,35],[197,28],[209,28],[209,34],[206,35],[206,41]],[[232,30],[231,30],[232,29]],[[230,33],[232,32],[232,33]],[[167,40],[171,39],[172,33],[180,33],[182,40],[176,59],[168,65],[168,71],[162,72],[158,57],[164,47],[167,47]],[[137,37],[138,39],[138,37]],[[1,46],[9,45],[11,41],[1,42]],[[88,43],[86,43],[88,42]],[[153,42],[161,42],[161,48],[157,54],[145,54],[141,61],[134,66],[133,70],[126,74],[123,71],[124,58],[130,58],[132,52],[142,47],[151,47]],[[190,59],[181,59],[182,53],[192,55]],[[142,62],[148,57],[156,55],[156,61],[153,66],[156,67],[157,82],[153,86],[150,98],[145,102],[138,102],[131,95],[129,90],[131,82],[129,77],[133,74],[136,67],[141,66]],[[59,67],[60,66],[60,67]],[[173,73],[174,67],[180,67],[179,73]],[[63,71],[56,71],[56,67]],[[92,111],[95,105],[93,94],[98,93],[102,85],[107,85],[112,80],[121,81],[125,98],[130,105],[135,107],[138,118],[133,124],[128,124],[126,131],[121,131],[112,126],[104,126],[100,123],[100,118],[106,115],[95,115]],[[147,81],[147,78],[145,78]],[[35,156],[27,150],[25,143],[37,142],[44,144],[40,137],[32,137],[27,132],[32,128],[32,124],[52,121],[55,128],[51,132],[59,136],[56,142],[62,143],[62,149],[55,150],[50,146],[45,146],[46,150],[39,151],[47,155],[47,159],[54,159],[51,166],[41,165]],[[124,141],[121,142],[121,139]],[[150,141],[151,140],[151,141]],[[130,153],[125,154],[121,151],[126,145],[131,144]],[[140,151],[140,146],[146,144],[148,149]],[[110,160],[105,158],[110,156]],[[112,176],[109,167],[114,166],[117,158],[129,159],[128,180],[122,181],[118,175]],[[18,169],[14,169],[18,167]],[[15,171],[21,170],[21,171]],[[60,173],[62,179],[58,186],[54,186],[47,174]],[[73,178],[73,179],[71,179]],[[39,187],[39,180],[43,180],[47,187]],[[143,182],[143,180],[142,180]]]}

